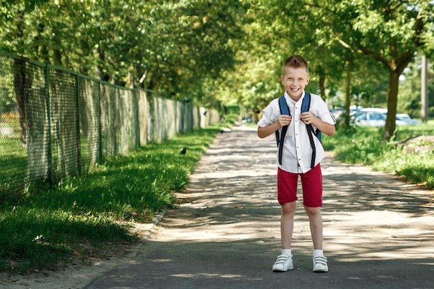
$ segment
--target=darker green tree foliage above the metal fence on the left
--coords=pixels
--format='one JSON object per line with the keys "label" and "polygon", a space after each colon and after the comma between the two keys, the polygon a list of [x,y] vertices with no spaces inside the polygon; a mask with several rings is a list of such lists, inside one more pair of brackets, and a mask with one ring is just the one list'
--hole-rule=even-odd
{"label": "darker green tree foliage above the metal fence on the left", "polygon": [[241,33],[247,5],[220,0],[27,4],[1,8],[0,50],[199,103],[205,78],[233,67],[232,39]]}

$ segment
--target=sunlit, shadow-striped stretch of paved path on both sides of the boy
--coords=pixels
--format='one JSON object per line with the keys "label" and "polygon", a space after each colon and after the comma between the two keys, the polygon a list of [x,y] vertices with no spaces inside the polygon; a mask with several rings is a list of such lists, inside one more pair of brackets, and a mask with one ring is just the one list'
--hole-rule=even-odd
{"label": "sunlit, shadow-striped stretch of paved path on both sides of the boy", "polygon": [[[244,136],[234,131],[216,139],[191,175],[188,188],[179,193],[181,207],[175,209],[174,216],[169,214],[160,228],[170,228],[177,242],[260,239],[279,245],[274,139],[246,143]],[[232,146],[219,146],[227,138]],[[261,150],[267,153],[259,153]],[[252,156],[258,164],[252,162]],[[348,254],[357,260],[387,259],[405,252],[402,244],[407,240],[417,247],[431,234],[432,216],[426,214],[432,211],[422,206],[426,191],[392,175],[330,158],[322,162],[322,172],[324,244],[329,254],[340,258],[333,251],[343,247],[343,259],[348,259]],[[309,220],[302,209],[301,191],[299,198],[294,244],[309,252]],[[379,254],[379,250],[384,252]],[[426,257],[423,253],[402,257]]]}

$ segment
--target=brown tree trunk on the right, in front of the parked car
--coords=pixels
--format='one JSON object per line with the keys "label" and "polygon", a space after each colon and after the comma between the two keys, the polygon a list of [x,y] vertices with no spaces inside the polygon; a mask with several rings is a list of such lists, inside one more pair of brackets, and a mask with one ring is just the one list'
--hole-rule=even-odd
{"label": "brown tree trunk on the right, in front of the parked car", "polygon": [[389,90],[388,90],[388,116],[385,119],[383,139],[390,141],[396,128],[395,119],[397,116],[399,73],[389,69]]}

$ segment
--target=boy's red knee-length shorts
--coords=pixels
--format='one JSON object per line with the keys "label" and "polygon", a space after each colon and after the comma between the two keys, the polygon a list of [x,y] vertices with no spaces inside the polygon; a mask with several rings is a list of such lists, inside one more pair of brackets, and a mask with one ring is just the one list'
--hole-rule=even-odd
{"label": "boy's red knee-length shorts", "polygon": [[307,173],[288,173],[277,168],[277,200],[279,204],[295,202],[298,176],[302,178],[303,204],[306,207],[322,207],[322,173],[320,164]]}

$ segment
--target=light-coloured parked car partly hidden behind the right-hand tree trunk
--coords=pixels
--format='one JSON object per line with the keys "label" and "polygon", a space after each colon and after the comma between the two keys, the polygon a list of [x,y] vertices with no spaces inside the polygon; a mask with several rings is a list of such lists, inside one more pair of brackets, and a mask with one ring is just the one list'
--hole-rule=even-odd
{"label": "light-coloured parked car partly hidden behind the right-hand tree trunk", "polygon": [[[380,127],[385,125],[387,113],[388,110],[384,108],[363,108],[354,112],[351,119],[354,119],[355,125]],[[417,125],[420,122],[411,119],[408,114],[397,114],[395,123],[396,125]]]}

